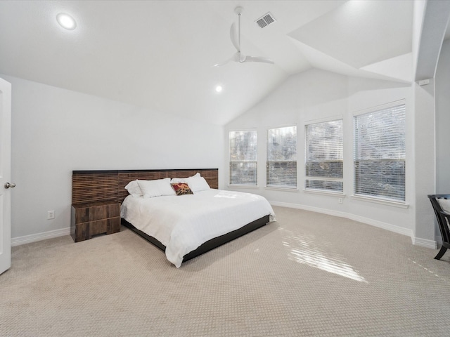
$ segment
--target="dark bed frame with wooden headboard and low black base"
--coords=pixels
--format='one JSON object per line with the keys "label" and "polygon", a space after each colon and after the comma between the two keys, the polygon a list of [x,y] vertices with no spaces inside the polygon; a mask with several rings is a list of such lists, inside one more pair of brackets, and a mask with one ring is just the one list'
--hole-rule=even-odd
{"label": "dark bed frame with wooden headboard and low black base", "polygon": [[[97,201],[116,201],[122,204],[128,192],[125,185],[131,180],[154,180],[162,178],[187,178],[199,172],[211,188],[218,188],[218,169],[168,169],[168,170],[102,170],[102,171],[72,171],[72,205],[84,204]],[[210,251],[222,244],[237,239],[253,230],[257,230],[269,223],[269,215],[263,216],[252,223],[233,230],[232,232],[214,237],[199,246],[194,251],[187,253],[183,262],[191,260],[207,251]],[[122,225],[136,232],[148,242],[154,244],[162,251],[166,247],[150,235],[138,230],[134,225],[122,219]]]}

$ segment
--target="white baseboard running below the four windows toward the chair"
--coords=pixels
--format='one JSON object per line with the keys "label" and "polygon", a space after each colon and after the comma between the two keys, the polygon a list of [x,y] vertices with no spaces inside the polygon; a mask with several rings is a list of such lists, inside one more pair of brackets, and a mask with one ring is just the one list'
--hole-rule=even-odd
{"label": "white baseboard running below the four windows toward the chair", "polygon": [[408,237],[411,237],[411,241],[413,244],[417,246],[423,246],[431,249],[437,249],[437,243],[433,240],[428,239],[420,239],[418,237],[414,237],[413,231],[409,228],[399,227],[396,225],[392,225],[390,223],[383,223],[378,220],[373,220],[371,218],[365,218],[364,216],[355,216],[352,213],[345,213],[340,211],[333,211],[330,209],[321,209],[319,207],[313,206],[304,206],[300,204],[289,204],[286,202],[278,202],[278,201],[269,201],[271,205],[281,206],[281,207],[290,207],[291,209],[304,209],[305,211],[312,211],[317,213],[328,214],[330,216],[339,216],[340,218],[347,218],[350,220],[359,221],[360,223],[366,223],[367,225],[372,225],[375,227],[383,228],[383,230],[390,230],[391,232],[395,232],[398,234],[403,234]]}

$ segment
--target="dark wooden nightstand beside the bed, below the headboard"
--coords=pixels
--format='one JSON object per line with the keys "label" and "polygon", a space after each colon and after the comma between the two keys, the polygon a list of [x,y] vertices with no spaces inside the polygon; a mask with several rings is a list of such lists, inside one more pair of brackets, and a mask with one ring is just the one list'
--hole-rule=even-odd
{"label": "dark wooden nightstand beside the bed, below the headboard", "polygon": [[91,239],[96,234],[120,232],[120,203],[97,201],[72,205],[70,235],[75,242]]}

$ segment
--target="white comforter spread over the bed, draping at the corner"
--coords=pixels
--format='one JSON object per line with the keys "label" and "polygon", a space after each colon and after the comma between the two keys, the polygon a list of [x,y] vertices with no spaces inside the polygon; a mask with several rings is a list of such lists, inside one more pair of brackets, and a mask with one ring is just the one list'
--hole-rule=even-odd
{"label": "white comforter spread over the bed, draping at the corner", "polygon": [[204,242],[266,215],[275,220],[264,197],[213,189],[154,198],[129,195],[121,209],[122,218],[166,246],[167,260],[176,267]]}

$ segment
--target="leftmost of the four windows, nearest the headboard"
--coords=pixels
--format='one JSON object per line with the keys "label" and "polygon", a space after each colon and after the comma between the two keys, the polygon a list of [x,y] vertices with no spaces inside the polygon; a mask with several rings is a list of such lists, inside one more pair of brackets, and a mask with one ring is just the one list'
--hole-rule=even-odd
{"label": "leftmost of the four windows, nearest the headboard", "polygon": [[257,185],[257,132],[230,131],[230,185]]}

